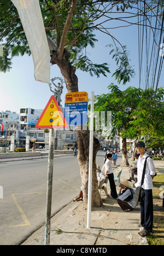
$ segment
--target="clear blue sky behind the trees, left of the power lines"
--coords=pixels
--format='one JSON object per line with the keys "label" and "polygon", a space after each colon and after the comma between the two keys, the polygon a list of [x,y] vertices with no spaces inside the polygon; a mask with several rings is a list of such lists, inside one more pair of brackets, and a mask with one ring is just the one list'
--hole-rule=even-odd
{"label": "clear blue sky behind the trees, left of the power lines", "polygon": [[[110,26],[111,25],[112,24],[110,24]],[[89,97],[91,91],[95,91],[95,95],[106,94],[108,93],[107,86],[110,83],[118,84],[117,81],[112,78],[116,65],[114,60],[112,60],[112,56],[109,55],[110,48],[106,47],[107,44],[113,43],[112,39],[101,32],[96,33],[98,42],[95,44],[95,48],[88,48],[87,53],[93,63],[107,62],[110,65],[111,73],[108,74],[107,78],[103,77],[103,75],[97,78],[91,77],[89,73],[77,70],[79,91],[86,91]],[[120,90],[125,90],[128,86],[138,88],[138,27],[133,25],[131,27],[120,28],[119,30],[111,30],[111,33],[122,45],[127,45],[127,50],[130,50],[130,63],[136,73],[130,83],[119,85]],[[0,111],[11,110],[19,112],[20,108],[24,107],[44,109],[52,93],[48,84],[36,82],[34,79],[32,56],[14,57],[12,62],[13,65],[10,72],[0,73]],[[163,72],[161,74],[159,87],[164,84]],[[51,66],[50,78],[54,77],[62,77],[60,69],[56,65]],[[64,106],[66,94],[67,89],[65,87],[62,95],[62,106]]]}

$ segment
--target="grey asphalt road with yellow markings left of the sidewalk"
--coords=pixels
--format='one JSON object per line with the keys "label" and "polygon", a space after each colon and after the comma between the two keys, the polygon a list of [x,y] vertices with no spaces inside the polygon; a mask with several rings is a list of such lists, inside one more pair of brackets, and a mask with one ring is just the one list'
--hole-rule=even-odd
{"label": "grey asphalt road with yellow markings left of the sidewalk", "polygon": [[[97,153],[103,165],[104,152]],[[121,153],[118,162],[121,164]],[[0,185],[4,195],[0,207],[0,244],[19,245],[44,225],[48,158],[0,162]],[[79,194],[81,187],[77,157],[54,157],[52,215]]]}

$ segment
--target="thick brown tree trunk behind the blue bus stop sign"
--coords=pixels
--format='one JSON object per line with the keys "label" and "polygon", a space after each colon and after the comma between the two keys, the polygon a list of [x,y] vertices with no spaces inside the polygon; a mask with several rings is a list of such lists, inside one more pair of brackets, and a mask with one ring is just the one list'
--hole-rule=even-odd
{"label": "thick brown tree trunk behind the blue bus stop sign", "polygon": [[[69,61],[70,54],[65,49],[63,52],[62,60],[58,60],[57,51],[52,50],[51,63],[57,64],[60,68],[63,78],[65,79],[68,92],[78,91],[78,78],[75,75],[75,67]],[[88,191],[88,178],[89,178],[89,130],[77,130],[78,136],[78,161],[80,166],[81,183],[83,188],[83,201],[87,205],[87,191]],[[97,138],[93,138],[93,168],[92,168],[92,207],[101,207],[102,200],[98,192],[97,173],[96,173],[96,154],[100,147]]]}

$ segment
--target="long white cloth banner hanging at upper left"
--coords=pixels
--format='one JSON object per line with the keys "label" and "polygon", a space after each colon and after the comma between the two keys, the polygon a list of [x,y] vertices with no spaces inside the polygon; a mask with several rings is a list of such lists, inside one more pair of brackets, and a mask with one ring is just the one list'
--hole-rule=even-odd
{"label": "long white cloth banner hanging at upper left", "polygon": [[11,0],[15,5],[26,34],[34,62],[37,81],[50,83],[50,49],[46,38],[38,0]]}

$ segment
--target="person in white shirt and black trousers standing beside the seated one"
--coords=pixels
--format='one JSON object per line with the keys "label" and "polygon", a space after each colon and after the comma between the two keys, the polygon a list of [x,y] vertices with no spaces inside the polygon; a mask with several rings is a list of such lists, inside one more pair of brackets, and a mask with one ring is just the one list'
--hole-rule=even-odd
{"label": "person in white shirt and black trousers standing beside the seated one", "polygon": [[112,169],[112,162],[115,165],[115,161],[112,158],[112,154],[107,154],[102,171],[104,171],[106,173],[106,177],[108,177],[108,179],[109,179],[110,194],[112,197],[114,197],[116,199],[116,198],[118,198],[118,193],[116,191],[116,186],[115,186],[115,182],[114,182],[114,174],[113,174],[114,170]]}

